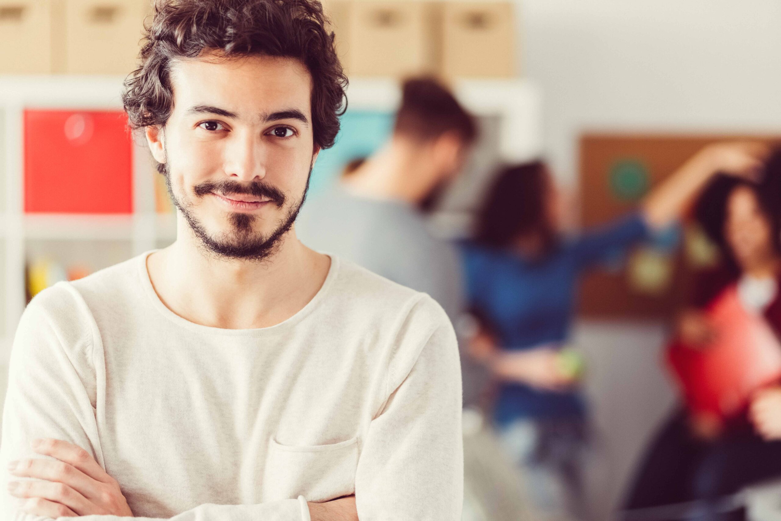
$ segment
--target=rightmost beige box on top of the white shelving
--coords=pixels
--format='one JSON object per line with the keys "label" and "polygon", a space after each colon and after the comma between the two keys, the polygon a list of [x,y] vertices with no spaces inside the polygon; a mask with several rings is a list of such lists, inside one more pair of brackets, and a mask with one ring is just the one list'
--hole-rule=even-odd
{"label": "rightmost beige box on top of the white shelving", "polygon": [[445,77],[515,76],[515,19],[509,2],[443,2]]}

